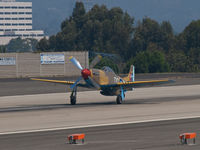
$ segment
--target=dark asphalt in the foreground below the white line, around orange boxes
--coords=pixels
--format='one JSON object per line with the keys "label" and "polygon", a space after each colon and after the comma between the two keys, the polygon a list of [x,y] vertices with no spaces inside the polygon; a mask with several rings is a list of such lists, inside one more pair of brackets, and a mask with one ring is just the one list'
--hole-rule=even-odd
{"label": "dark asphalt in the foreground below the white line, around orange boxes", "polygon": [[[1,150],[198,150],[200,119],[162,121],[96,128],[0,136]],[[180,144],[179,134],[196,132],[195,145]],[[85,133],[85,143],[71,145],[67,136]]]}

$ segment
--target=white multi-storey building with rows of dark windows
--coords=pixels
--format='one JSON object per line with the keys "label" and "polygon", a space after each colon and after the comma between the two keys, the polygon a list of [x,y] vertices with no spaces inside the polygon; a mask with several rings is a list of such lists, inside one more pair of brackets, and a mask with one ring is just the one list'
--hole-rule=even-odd
{"label": "white multi-storey building with rows of dark windows", "polygon": [[32,2],[0,0],[0,45],[17,37],[37,40],[44,37],[44,31],[33,30]]}

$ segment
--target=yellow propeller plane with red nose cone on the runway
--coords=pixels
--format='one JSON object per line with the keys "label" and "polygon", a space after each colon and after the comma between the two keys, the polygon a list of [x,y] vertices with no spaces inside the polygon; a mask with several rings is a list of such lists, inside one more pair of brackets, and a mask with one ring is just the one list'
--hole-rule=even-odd
{"label": "yellow propeller plane with red nose cone on the runway", "polygon": [[[95,88],[100,90],[102,95],[117,96],[116,102],[117,104],[121,104],[125,100],[125,92],[128,90],[132,90],[135,87],[172,82],[171,80],[135,81],[135,69],[133,65],[131,65],[128,76],[122,78],[116,75],[109,67],[103,67],[101,70],[83,69],[76,58],[71,56],[69,59],[81,72],[81,76],[75,82],[36,78],[32,78],[32,80],[70,85],[72,90],[70,101],[72,105],[76,104],[77,87]],[[90,64],[90,68],[93,68],[100,60],[101,56],[98,55]],[[80,83],[82,79],[85,81],[84,83]]]}

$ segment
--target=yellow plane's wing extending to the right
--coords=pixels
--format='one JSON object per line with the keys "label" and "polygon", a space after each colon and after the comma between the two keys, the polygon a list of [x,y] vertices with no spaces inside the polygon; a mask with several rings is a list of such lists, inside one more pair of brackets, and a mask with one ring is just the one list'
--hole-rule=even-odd
{"label": "yellow plane's wing extending to the right", "polygon": [[144,86],[156,86],[160,84],[172,83],[173,80],[150,80],[150,81],[134,81],[134,82],[118,82],[116,84],[110,85],[102,85],[102,88],[108,87],[120,87],[123,86],[126,88],[137,88],[137,87],[144,87]]}

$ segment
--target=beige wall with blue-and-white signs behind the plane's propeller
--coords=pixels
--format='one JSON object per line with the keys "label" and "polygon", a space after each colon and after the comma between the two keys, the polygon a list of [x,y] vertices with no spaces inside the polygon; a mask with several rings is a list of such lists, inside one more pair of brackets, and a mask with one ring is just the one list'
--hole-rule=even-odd
{"label": "beige wall with blue-and-white signs behind the plane's propeller", "polygon": [[69,61],[74,56],[83,67],[88,68],[88,52],[52,53],[0,53],[0,78],[79,76]]}

